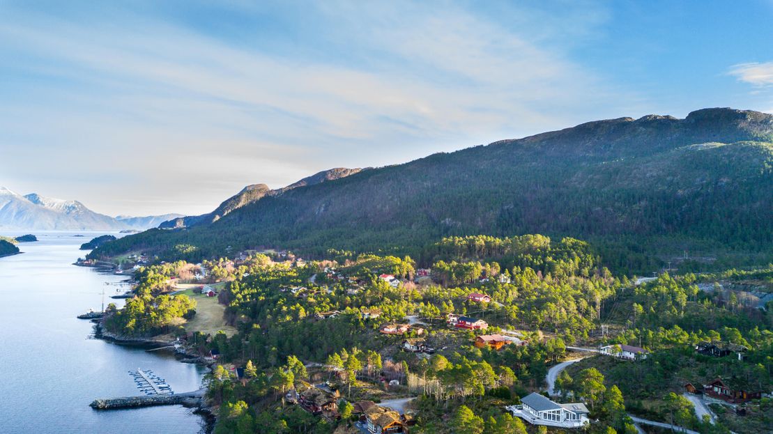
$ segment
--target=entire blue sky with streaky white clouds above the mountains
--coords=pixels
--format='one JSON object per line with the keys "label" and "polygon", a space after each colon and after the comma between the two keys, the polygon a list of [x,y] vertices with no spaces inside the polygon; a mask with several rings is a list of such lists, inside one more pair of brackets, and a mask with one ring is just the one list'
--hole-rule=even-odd
{"label": "entire blue sky with streaky white clouds above the mountains", "polygon": [[110,214],[611,117],[773,112],[773,0],[0,0],[0,185]]}

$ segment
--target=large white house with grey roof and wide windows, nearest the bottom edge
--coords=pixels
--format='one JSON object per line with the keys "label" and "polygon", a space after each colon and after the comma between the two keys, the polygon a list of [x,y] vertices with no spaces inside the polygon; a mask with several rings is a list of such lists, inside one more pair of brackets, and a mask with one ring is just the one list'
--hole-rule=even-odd
{"label": "large white house with grey roof and wide windows, nearest the bottom edge", "polygon": [[558,404],[536,392],[521,398],[521,405],[509,405],[505,409],[532,425],[581,428],[591,423],[587,418],[589,412],[581,402]]}

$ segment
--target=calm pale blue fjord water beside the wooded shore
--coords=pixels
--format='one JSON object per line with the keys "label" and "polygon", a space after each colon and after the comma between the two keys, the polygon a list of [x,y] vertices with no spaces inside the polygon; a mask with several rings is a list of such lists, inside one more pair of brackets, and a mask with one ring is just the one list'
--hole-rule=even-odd
{"label": "calm pale blue fjord water beside the wooded shore", "polygon": [[[22,235],[22,234],[2,234]],[[203,419],[181,406],[96,411],[95,398],[140,395],[128,371],[150,369],[175,392],[199,388],[203,368],[165,351],[146,352],[94,339],[78,320],[111,300],[125,277],[71,265],[81,243],[102,234],[36,234],[22,254],[0,258],[0,432],[203,432]]]}

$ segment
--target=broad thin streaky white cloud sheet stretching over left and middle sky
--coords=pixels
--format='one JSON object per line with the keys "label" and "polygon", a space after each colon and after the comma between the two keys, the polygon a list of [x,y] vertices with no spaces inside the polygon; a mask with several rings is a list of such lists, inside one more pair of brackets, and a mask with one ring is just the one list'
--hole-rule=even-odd
{"label": "broad thin streaky white cloud sheet stretching over left and middle sky", "polygon": [[[7,166],[26,167],[11,176],[91,174],[100,181],[57,184],[77,192],[35,188],[104,212],[206,212],[246,184],[275,188],[325,168],[617,117],[637,100],[550,42],[587,35],[581,23],[600,19],[587,10],[558,17],[571,25],[530,24],[533,12],[514,10],[512,27],[452,4],[347,2],[321,13],[330,52],[360,53],[356,62],[266,53],[131,13],[88,22],[9,13],[0,55],[41,77],[18,83],[23,99],[0,92],[0,151],[18,160]],[[164,197],[189,205],[163,209]]]}

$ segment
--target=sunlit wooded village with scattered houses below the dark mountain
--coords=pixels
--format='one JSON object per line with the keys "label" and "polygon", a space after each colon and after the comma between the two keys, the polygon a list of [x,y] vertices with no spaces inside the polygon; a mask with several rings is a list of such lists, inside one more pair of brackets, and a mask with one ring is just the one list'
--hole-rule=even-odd
{"label": "sunlit wooded village with scattered houses below the dark mountain", "polygon": [[[773,334],[727,325],[687,332],[679,318],[705,310],[740,324],[730,319],[766,311],[693,290],[694,276],[638,286],[612,277],[581,242],[519,241],[507,262],[440,259],[427,268],[393,256],[308,261],[247,251],[140,267],[135,293],[163,297],[193,285],[194,298],[224,307],[228,333],[175,321],[152,332],[213,365],[209,398],[222,432],[241,423],[257,432],[372,433],[659,429],[649,422],[744,432],[747,422],[764,423]],[[107,327],[121,332],[125,310]],[[659,371],[676,359],[675,371]]]}

